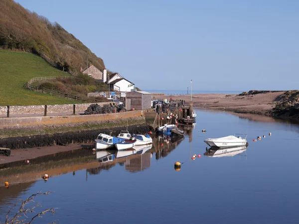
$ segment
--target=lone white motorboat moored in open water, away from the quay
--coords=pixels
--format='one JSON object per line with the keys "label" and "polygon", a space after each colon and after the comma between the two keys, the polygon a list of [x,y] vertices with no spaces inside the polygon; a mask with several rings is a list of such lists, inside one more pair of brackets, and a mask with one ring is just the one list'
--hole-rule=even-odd
{"label": "lone white motorboat moored in open water, away from the quay", "polygon": [[246,137],[242,138],[241,136],[236,137],[235,135],[229,135],[222,138],[207,138],[204,142],[211,147],[218,148],[245,146],[247,143]]}

